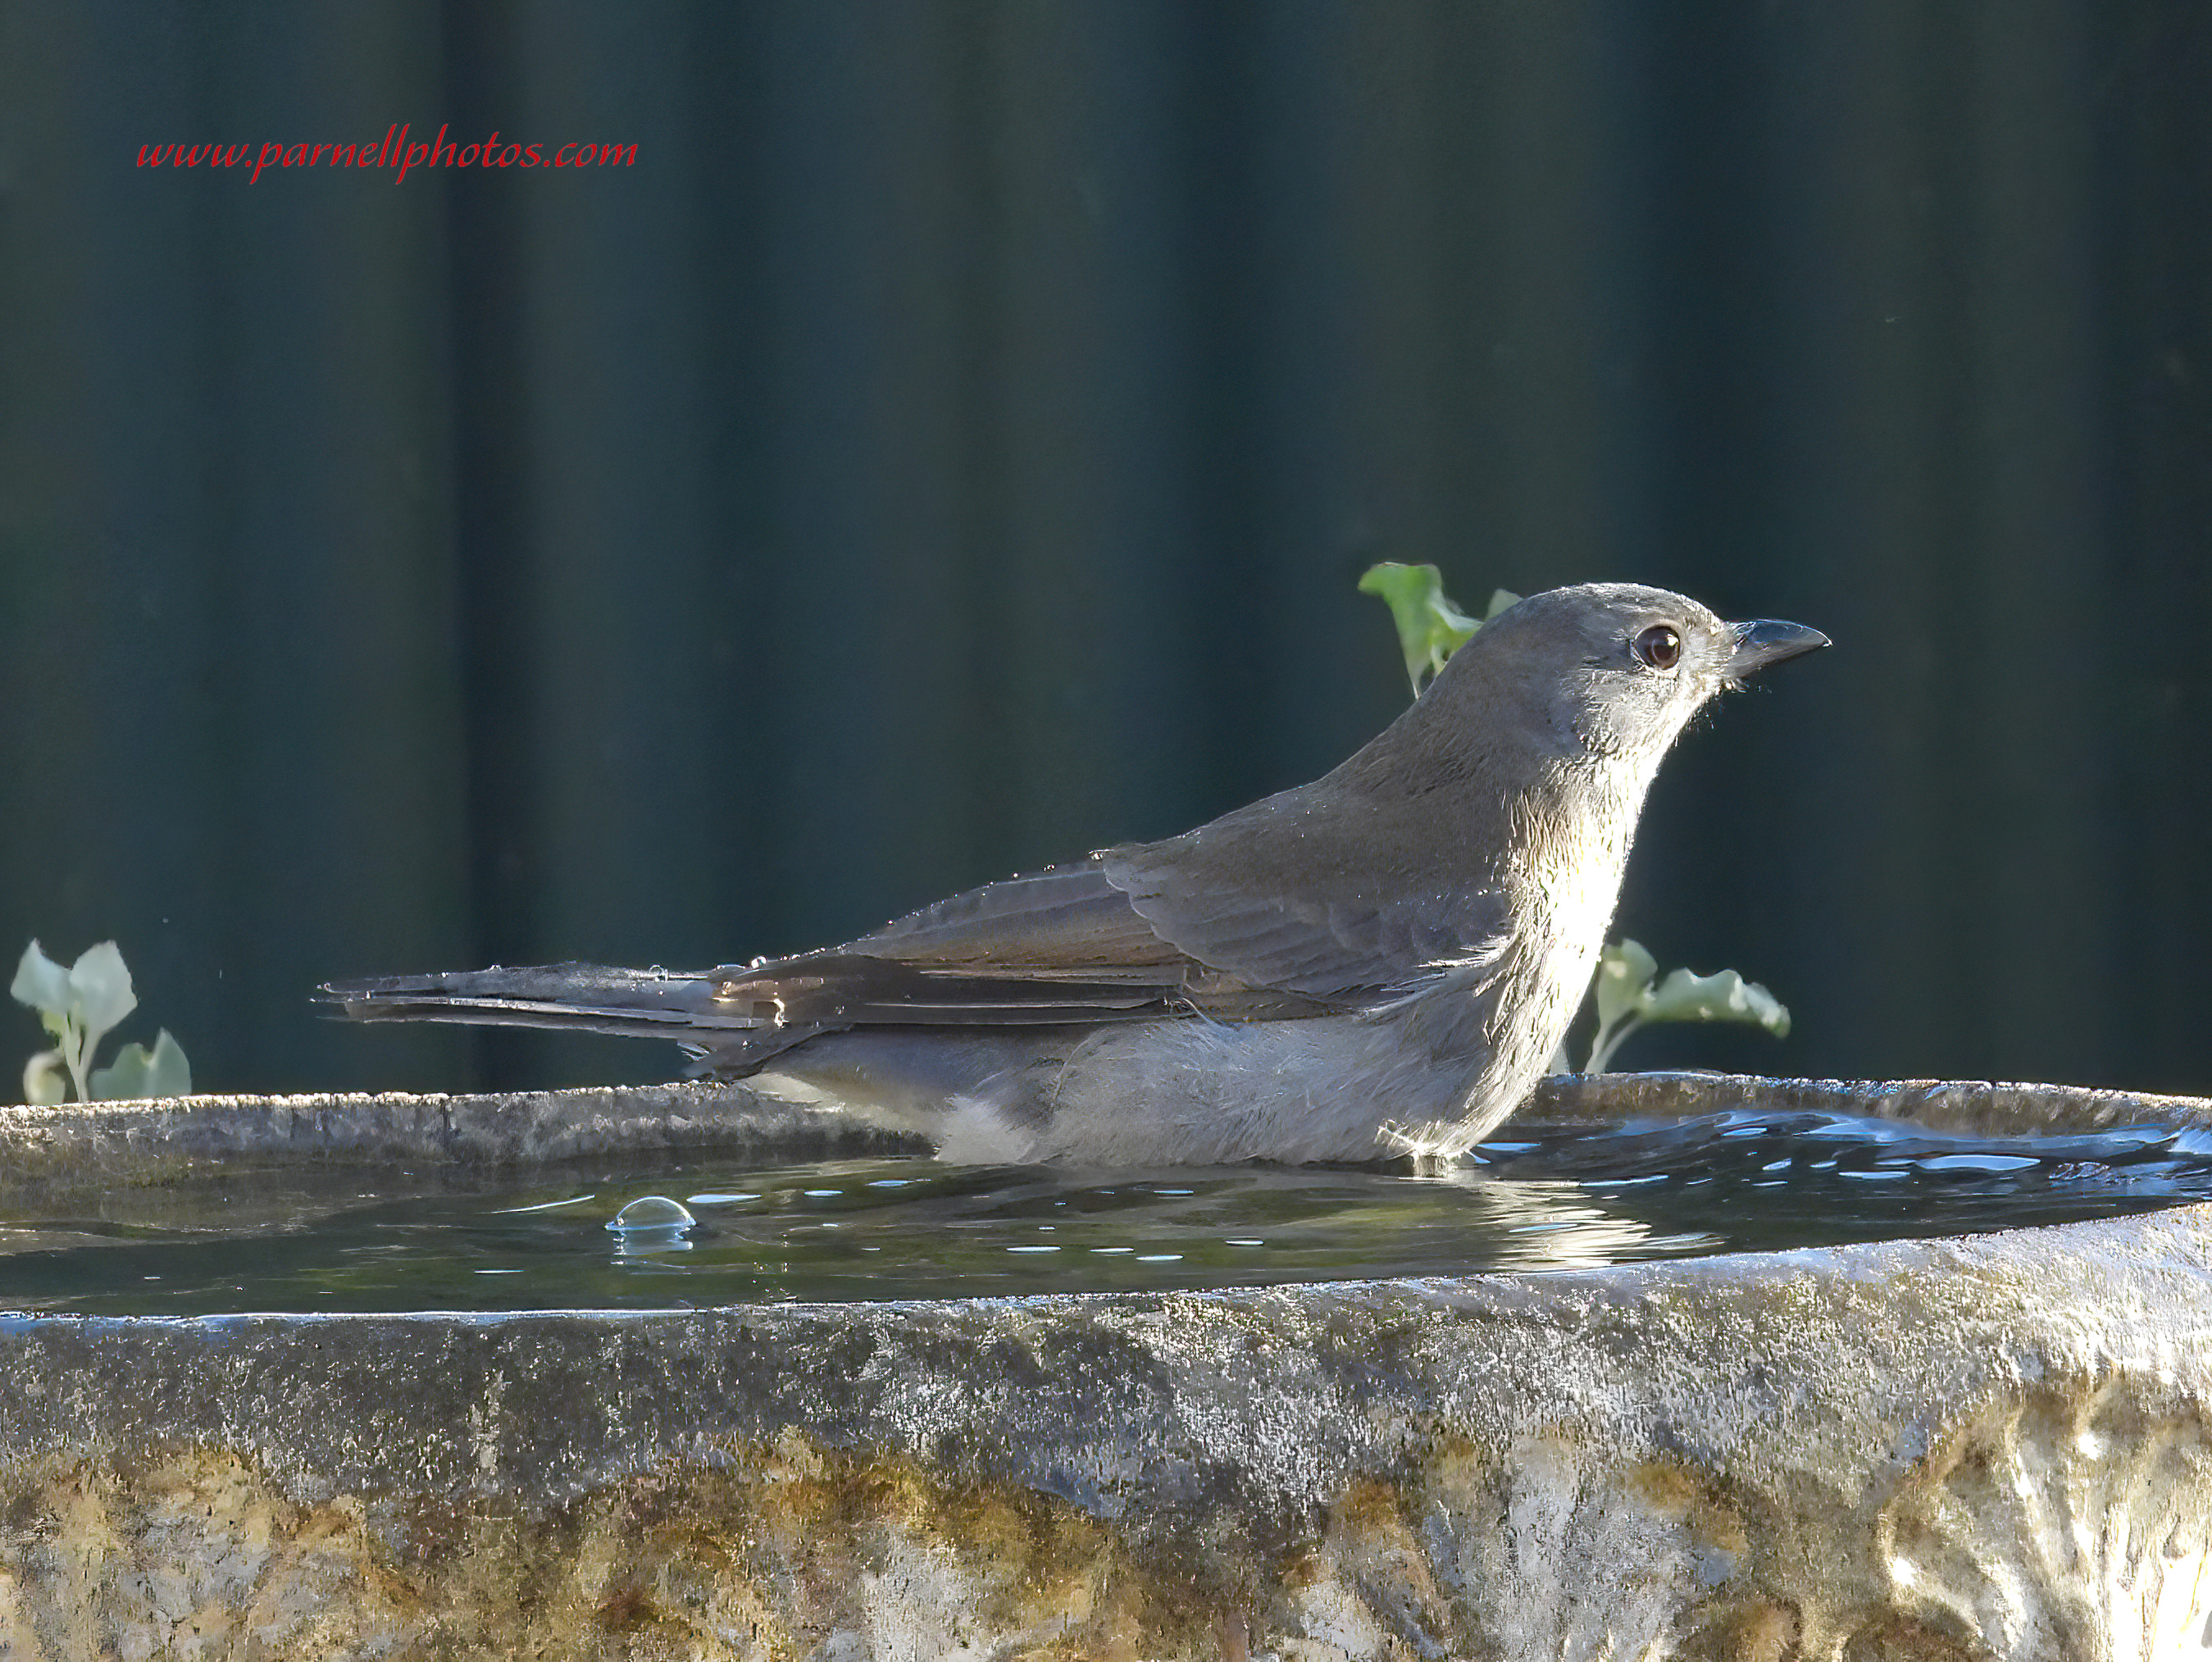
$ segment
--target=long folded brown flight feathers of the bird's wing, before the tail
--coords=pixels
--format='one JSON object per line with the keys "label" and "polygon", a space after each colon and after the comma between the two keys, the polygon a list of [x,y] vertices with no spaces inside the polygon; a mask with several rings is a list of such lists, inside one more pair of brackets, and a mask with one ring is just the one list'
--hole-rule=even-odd
{"label": "long folded brown flight feathers of the bird's wing, before the tail", "polygon": [[779,1029],[1073,1025],[1332,1009],[1164,941],[1097,861],[987,883],[843,947],[714,972],[717,1005]]}

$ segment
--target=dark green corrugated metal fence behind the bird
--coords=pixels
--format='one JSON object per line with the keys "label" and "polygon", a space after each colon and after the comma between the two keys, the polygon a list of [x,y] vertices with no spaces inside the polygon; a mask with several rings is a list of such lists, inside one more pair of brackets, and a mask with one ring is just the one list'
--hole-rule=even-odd
{"label": "dark green corrugated metal fence behind the bird", "polygon": [[[135,166],[392,122],[639,159]],[[1836,637],[1621,910],[1796,1033],[1624,1060],[2208,1091],[2208,319],[2201,0],[13,0],[0,947],[204,1089],[666,1073],[307,991],[1181,830],[1433,560]]]}

